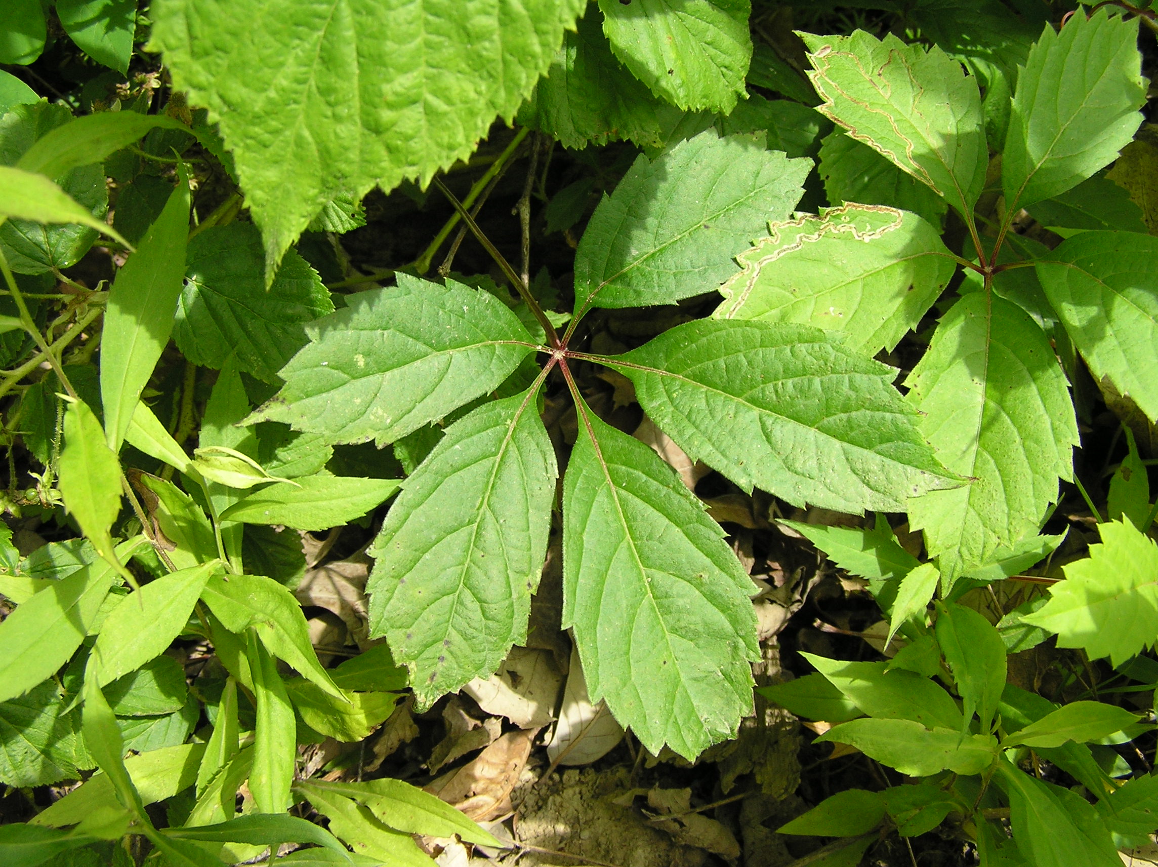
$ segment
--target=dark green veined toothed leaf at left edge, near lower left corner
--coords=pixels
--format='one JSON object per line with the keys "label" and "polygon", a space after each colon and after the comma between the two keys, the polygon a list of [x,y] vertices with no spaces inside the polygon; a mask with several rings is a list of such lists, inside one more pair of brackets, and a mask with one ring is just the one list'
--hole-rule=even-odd
{"label": "dark green veined toothed leaf at left edge, near lower left corner", "polygon": [[93,766],[80,742],[80,715],[65,709],[66,697],[52,680],[0,702],[0,782],[43,786],[75,779],[78,765]]}

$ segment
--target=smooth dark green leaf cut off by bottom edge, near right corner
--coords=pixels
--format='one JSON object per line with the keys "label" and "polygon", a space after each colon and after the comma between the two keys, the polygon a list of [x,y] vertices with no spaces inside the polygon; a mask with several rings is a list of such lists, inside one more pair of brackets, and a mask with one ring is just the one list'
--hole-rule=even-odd
{"label": "smooth dark green leaf cut off by bottom edge, near right corner", "polygon": [[[1079,795],[1073,797],[1085,810],[1065,799],[1073,793],[1034,779],[1009,762],[997,763],[994,781],[1009,797],[1013,839],[1031,865],[1121,867],[1109,832]],[[1075,813],[1083,819],[1080,823],[1075,822]]]}

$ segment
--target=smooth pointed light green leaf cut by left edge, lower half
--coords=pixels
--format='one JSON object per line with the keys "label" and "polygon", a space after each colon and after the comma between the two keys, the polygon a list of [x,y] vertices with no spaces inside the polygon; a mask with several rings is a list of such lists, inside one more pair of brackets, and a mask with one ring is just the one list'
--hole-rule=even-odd
{"label": "smooth pointed light green leaf cut by left edge, lower half", "polygon": [[[118,553],[124,555],[127,544]],[[0,622],[0,701],[16,698],[68,662],[116,580],[103,560],[53,581]]]}

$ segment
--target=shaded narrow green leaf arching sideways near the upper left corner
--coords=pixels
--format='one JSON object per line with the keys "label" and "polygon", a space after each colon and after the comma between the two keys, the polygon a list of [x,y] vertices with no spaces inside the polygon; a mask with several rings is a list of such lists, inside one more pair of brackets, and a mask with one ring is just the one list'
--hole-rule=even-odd
{"label": "shaded narrow green leaf arching sideways near the upper left corner", "polygon": [[[67,1],[74,6],[79,5],[76,0]],[[80,0],[80,2],[91,5],[94,0]],[[101,2],[101,0],[96,0],[96,2]],[[58,0],[58,10],[63,5],[64,2]],[[149,130],[157,128],[189,131],[188,126],[167,115],[101,111],[78,117],[38,138],[16,162],[16,168],[58,178],[71,169],[100,162],[109,154],[133,144]],[[185,223],[188,225],[188,213]]]}

